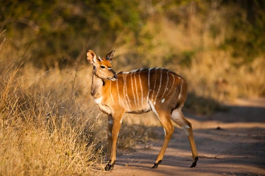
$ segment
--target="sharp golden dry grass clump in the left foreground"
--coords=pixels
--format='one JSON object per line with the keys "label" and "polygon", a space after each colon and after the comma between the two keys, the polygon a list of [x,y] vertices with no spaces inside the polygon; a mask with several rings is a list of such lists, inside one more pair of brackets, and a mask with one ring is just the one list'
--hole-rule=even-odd
{"label": "sharp golden dry grass clump in the left foreground", "polygon": [[[7,68],[0,74],[1,175],[80,175],[100,168],[104,132],[96,129],[93,113],[46,90],[62,82],[41,75],[26,80],[25,68]],[[68,94],[63,87],[56,91]]]}

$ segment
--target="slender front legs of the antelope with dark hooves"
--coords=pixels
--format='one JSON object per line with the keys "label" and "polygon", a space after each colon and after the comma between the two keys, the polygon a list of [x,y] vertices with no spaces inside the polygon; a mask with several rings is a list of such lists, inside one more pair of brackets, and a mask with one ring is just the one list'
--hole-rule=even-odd
{"label": "slender front legs of the antelope with dark hooves", "polygon": [[[111,116],[112,117],[112,116]],[[117,138],[119,134],[119,129],[121,126],[121,117],[111,118],[112,119],[112,129],[108,132],[109,136],[109,151],[111,151],[109,160],[105,166],[105,170],[112,170],[116,161],[116,146]],[[109,121],[110,122],[110,121]],[[110,124],[109,124],[110,126]],[[109,128],[110,130],[110,128]]]}

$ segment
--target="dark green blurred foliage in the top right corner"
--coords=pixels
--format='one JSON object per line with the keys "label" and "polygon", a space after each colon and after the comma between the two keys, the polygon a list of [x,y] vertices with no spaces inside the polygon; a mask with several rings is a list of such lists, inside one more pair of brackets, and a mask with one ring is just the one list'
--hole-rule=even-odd
{"label": "dark green blurred foliage in the top right corner", "polygon": [[[223,49],[232,48],[235,64],[253,61],[256,56],[265,54],[265,3],[264,1],[228,1],[228,28]],[[232,12],[232,13],[231,13]],[[243,58],[238,61],[236,58]]]}

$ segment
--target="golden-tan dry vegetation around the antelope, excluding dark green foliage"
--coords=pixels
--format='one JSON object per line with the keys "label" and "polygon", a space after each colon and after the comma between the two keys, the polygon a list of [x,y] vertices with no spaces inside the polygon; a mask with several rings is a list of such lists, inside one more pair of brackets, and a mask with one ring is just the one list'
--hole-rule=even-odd
{"label": "golden-tan dry vegetation around the antelope, excluding dark green foliage", "polygon": [[[103,39],[95,45],[99,36],[87,38],[89,49],[96,48],[102,56],[115,47],[115,71],[160,66],[183,75],[189,84],[186,107],[195,113],[209,115],[219,103],[265,95],[264,55],[237,64],[243,56],[235,59],[231,48],[220,49],[227,31],[232,30],[224,20],[229,9],[214,9],[205,19],[194,13],[194,6],[187,5],[188,20],[175,23],[162,13],[162,5],[150,7],[151,15],[136,41],[124,28],[114,41],[107,42],[108,48],[101,49]],[[167,13],[183,12],[178,8],[171,6]],[[219,27],[216,37],[209,30],[213,25]],[[36,56],[34,48],[42,47],[43,41],[24,45],[30,33],[18,40],[10,39],[8,32],[0,34],[0,175],[96,174],[105,159],[107,124],[90,96],[92,68],[85,61],[86,51],[80,48],[79,55],[63,67],[56,61],[36,66],[41,56],[50,60],[73,56],[66,51]],[[131,148],[155,136],[150,126],[158,121],[144,116],[124,117],[119,148]]]}

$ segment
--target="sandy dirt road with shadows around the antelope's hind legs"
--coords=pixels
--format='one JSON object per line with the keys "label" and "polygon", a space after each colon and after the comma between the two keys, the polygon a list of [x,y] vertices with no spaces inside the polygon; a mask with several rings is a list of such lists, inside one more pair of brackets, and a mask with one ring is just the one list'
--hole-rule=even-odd
{"label": "sandy dirt road with shadows around the antelope's hind legs", "polygon": [[114,169],[99,175],[265,175],[265,99],[238,100],[212,117],[185,113],[193,125],[199,153],[195,168],[183,130],[175,132],[162,163],[151,169],[163,142],[163,129],[152,147],[120,152]]}

